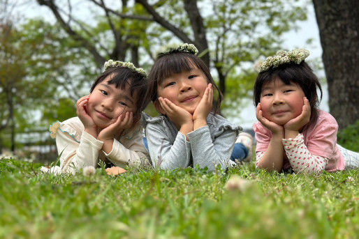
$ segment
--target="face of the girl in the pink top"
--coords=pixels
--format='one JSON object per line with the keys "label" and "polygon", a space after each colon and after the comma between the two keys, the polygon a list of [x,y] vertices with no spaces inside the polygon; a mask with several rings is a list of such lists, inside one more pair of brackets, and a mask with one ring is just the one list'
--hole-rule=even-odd
{"label": "face of the girl in the pink top", "polygon": [[263,116],[278,125],[285,125],[292,118],[302,113],[305,93],[293,82],[284,84],[275,79],[263,85],[261,92],[261,109]]}

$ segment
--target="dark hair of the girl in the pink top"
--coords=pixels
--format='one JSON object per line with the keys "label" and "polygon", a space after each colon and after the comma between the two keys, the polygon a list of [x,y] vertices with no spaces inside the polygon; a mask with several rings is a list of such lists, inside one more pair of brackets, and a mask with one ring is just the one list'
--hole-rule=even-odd
{"label": "dark hair of the girl in the pink top", "polygon": [[[302,88],[302,91],[305,93],[305,97],[309,100],[311,108],[310,120],[306,127],[309,128],[311,125],[314,125],[318,119],[318,105],[321,101],[323,91],[321,89],[321,84],[318,81],[318,77],[314,75],[312,68],[310,68],[307,63],[302,61],[300,64],[287,63],[279,65],[277,68],[270,68],[270,70],[259,73],[256,83],[254,84],[253,98],[255,106],[257,106],[261,101],[261,91],[263,85],[275,79],[281,79],[284,84],[294,82]],[[316,87],[318,87],[321,91],[320,99],[318,99]]]}

